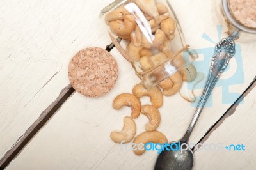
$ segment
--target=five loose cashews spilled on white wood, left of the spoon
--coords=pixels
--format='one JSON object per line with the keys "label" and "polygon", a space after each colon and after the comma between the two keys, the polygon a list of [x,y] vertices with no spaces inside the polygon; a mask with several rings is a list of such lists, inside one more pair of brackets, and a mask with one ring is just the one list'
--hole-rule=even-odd
{"label": "five loose cashews spilled on white wood, left of the spoon", "polygon": [[[124,93],[118,95],[113,101],[114,109],[121,109],[124,105],[131,107],[131,117],[124,118],[124,127],[121,132],[112,132],[110,137],[115,143],[129,143],[134,139],[136,134],[136,123],[133,119],[138,118],[140,114],[147,116],[149,122],[145,125],[145,132],[135,137],[133,143],[138,147],[143,143],[165,143],[167,138],[164,134],[157,131],[161,116],[157,108],[163,105],[163,93],[157,86],[145,89],[142,84],[137,84],[132,89],[133,94]],[[141,107],[140,98],[143,96],[150,97],[152,105],[143,105]],[[134,150],[136,155],[142,155],[145,150]]]}

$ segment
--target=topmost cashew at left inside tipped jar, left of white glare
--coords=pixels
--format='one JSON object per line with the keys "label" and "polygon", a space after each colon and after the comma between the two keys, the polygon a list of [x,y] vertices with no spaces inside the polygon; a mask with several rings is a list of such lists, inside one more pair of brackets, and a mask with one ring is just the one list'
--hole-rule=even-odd
{"label": "topmost cashew at left inside tipped jar, left of white glare", "polygon": [[113,20],[123,20],[125,15],[128,15],[129,12],[124,8],[124,6],[121,6],[119,8],[116,8],[115,10],[109,12],[106,14],[105,22],[107,25],[109,25],[109,22]]}

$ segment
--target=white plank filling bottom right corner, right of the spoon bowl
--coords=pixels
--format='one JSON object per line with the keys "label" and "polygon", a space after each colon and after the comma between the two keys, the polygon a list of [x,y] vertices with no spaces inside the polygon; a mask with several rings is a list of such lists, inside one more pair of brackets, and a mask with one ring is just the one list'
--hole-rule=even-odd
{"label": "white plank filling bottom right corner, right of the spoon bowl", "polygon": [[232,116],[218,127],[204,143],[244,144],[245,151],[195,151],[194,169],[255,169],[256,165],[256,88],[244,98],[244,104],[238,105]]}

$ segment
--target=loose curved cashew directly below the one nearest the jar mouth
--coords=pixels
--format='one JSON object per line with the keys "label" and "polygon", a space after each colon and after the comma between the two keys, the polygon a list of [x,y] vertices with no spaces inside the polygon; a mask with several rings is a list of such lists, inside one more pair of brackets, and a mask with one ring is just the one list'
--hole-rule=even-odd
{"label": "loose curved cashew directly below the one nearest the jar mouth", "polygon": [[161,120],[158,109],[153,105],[143,105],[143,107],[141,107],[141,113],[149,119],[149,123],[146,125],[145,129],[148,132],[156,130]]}

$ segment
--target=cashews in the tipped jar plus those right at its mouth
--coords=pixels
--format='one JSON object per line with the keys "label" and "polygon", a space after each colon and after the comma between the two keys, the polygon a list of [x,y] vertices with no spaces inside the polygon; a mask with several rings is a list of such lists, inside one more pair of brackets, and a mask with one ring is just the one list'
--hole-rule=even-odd
{"label": "cashews in the tipped jar plus those right at its mouth", "polygon": [[[182,54],[173,56],[171,41],[175,37],[176,23],[170,17],[168,8],[155,0],[132,0],[140,8],[146,21],[151,27],[154,40],[148,42],[142,33],[140,26],[136,23],[136,13],[129,12],[125,6],[120,6],[107,13],[105,22],[109,26],[113,35],[122,38],[127,47],[124,50],[119,43],[115,43],[116,48],[131,63],[140,63],[143,72],[158,66],[172,59],[173,65],[177,68],[184,66]],[[111,38],[113,41],[115,38]],[[170,96],[179,92],[182,82],[191,82],[196,77],[196,68],[188,65],[180,72],[159,82],[158,86],[163,89],[163,95]]]}

